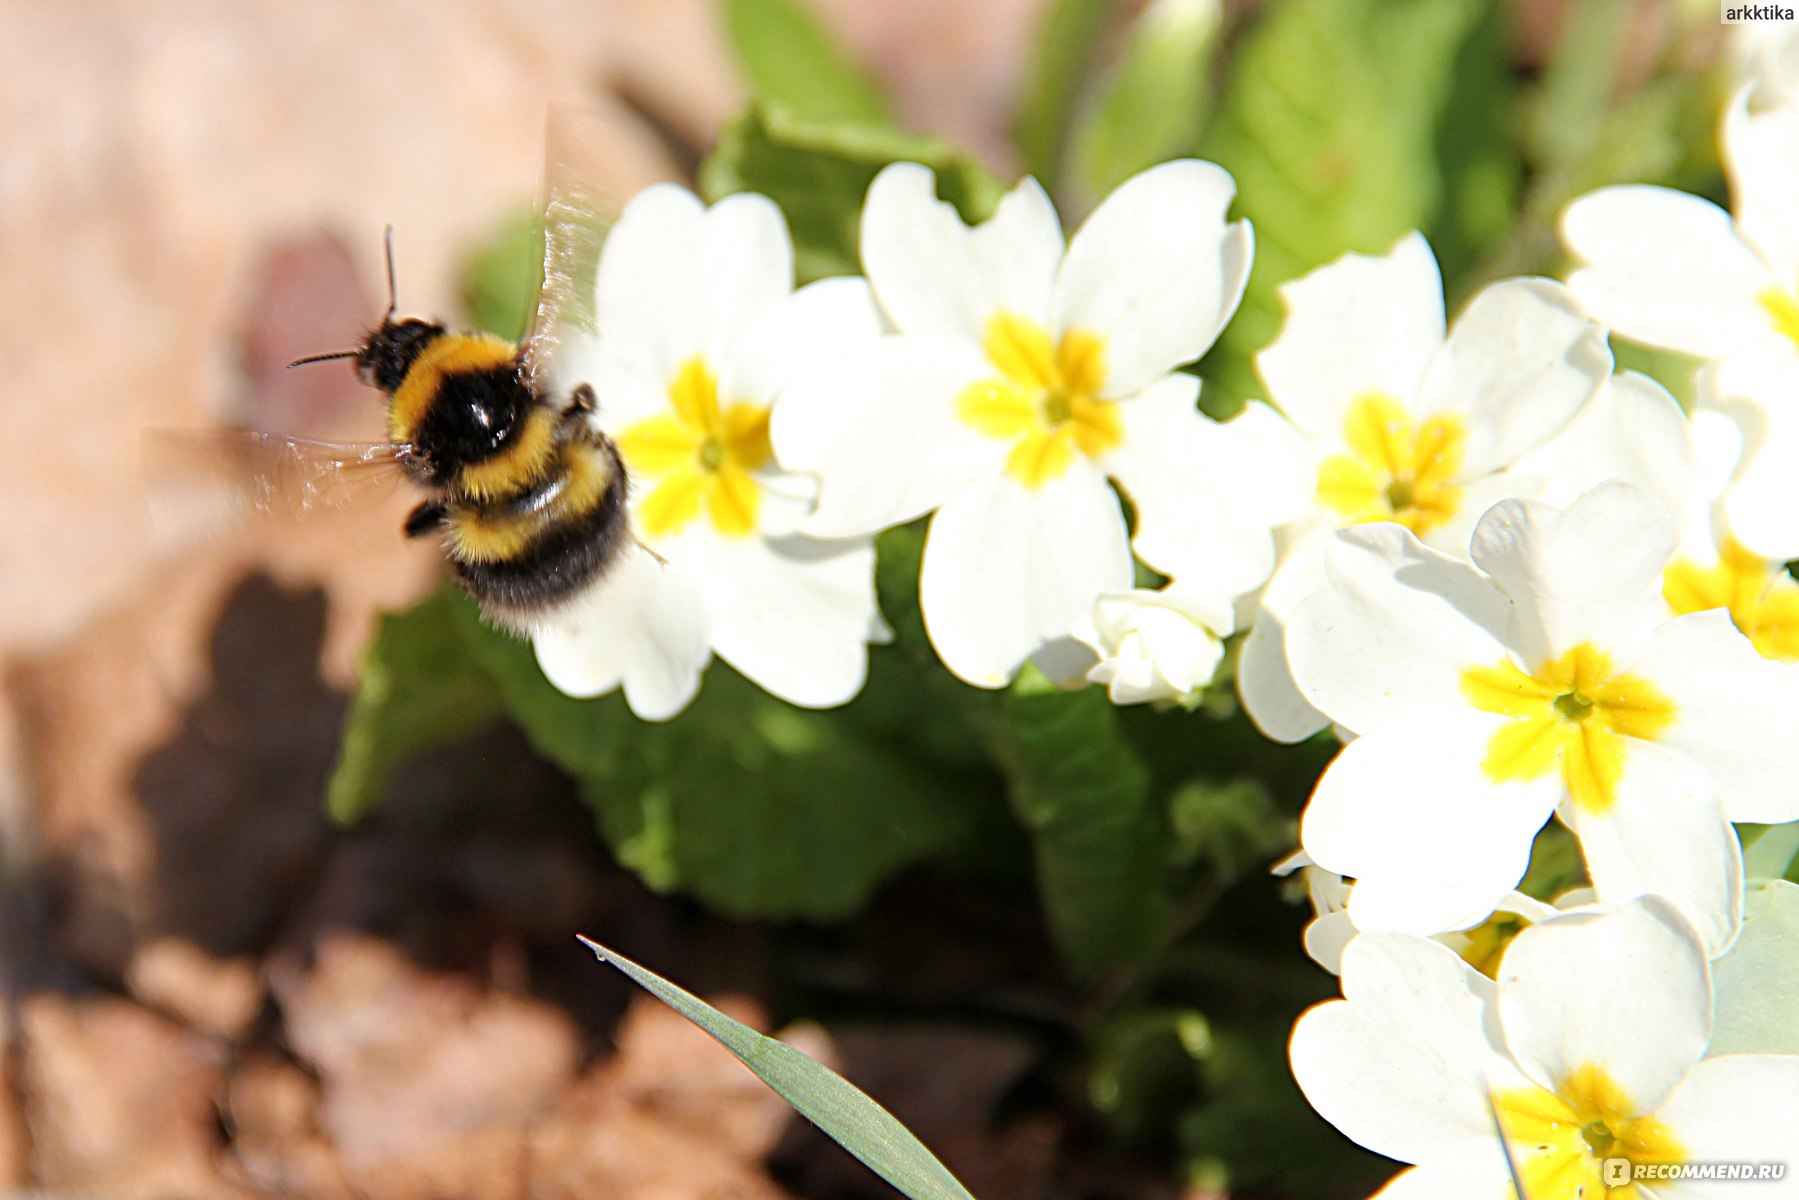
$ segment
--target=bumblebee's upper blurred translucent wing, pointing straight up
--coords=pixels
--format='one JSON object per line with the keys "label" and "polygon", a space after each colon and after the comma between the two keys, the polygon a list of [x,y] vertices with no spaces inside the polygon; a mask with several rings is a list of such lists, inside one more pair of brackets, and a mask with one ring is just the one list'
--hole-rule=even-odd
{"label": "bumblebee's upper blurred translucent wing, pointing straight up", "polygon": [[597,336],[594,284],[606,239],[604,135],[594,113],[552,108],[543,151],[543,277],[525,340],[534,383],[561,392],[583,381],[576,362]]}

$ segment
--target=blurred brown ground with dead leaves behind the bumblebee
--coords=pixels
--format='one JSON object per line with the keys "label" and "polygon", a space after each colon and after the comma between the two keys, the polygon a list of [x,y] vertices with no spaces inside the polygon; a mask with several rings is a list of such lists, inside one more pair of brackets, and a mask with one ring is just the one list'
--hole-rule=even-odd
{"label": "blurred brown ground with dead leaves behind the bumblebee", "polygon": [[[912,124],[1011,171],[1038,0],[817,7]],[[552,101],[599,113],[622,200],[741,85],[711,0],[0,0],[0,1193],[777,1191],[781,1101],[572,943],[729,997],[756,936],[644,894],[513,734],[322,819],[358,649],[435,578],[403,509],[261,542],[144,518],[146,428],[378,435],[342,363],[281,363],[380,315],[389,223],[401,308],[455,317]],[[917,1103],[953,1139],[1022,1060],[889,1054],[946,1058],[955,1103]],[[1045,1137],[950,1157],[1016,1184]]]}

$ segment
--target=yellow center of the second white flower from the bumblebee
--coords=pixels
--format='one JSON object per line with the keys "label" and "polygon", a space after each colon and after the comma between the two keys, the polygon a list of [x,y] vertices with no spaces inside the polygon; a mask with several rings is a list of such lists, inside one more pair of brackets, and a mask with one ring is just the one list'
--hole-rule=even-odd
{"label": "yellow center of the second white flower from the bumblebee", "polygon": [[988,320],[980,347],[998,374],[964,387],[955,416],[1013,443],[1006,471],[1025,488],[1060,479],[1076,450],[1094,459],[1124,441],[1117,405],[1099,398],[1105,338],[1070,329],[1051,344],[1036,322],[998,313]]}

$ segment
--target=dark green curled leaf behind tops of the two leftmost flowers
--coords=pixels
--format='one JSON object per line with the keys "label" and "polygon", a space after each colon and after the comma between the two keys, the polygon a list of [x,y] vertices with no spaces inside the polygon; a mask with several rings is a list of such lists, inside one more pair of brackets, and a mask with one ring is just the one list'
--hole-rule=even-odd
{"label": "dark green curled leaf behind tops of the two leftmost flowers", "polygon": [[781,205],[793,234],[797,273],[810,282],[862,270],[856,252],[862,198],[892,162],[934,169],[937,193],[964,219],[984,219],[998,203],[998,180],[941,139],[808,121],[770,106],[752,106],[723,128],[718,148],[700,167],[700,191],[709,201],[761,193]]}

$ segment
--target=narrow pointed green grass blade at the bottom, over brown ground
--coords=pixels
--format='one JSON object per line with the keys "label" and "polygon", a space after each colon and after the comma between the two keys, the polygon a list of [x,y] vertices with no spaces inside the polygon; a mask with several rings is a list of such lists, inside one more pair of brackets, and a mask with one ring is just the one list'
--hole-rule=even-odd
{"label": "narrow pointed green grass blade at the bottom, over brown ground", "polygon": [[586,937],[581,943],[601,963],[624,972],[639,988],[703,1029],[772,1087],[793,1112],[817,1124],[831,1141],[856,1155],[871,1171],[912,1200],[973,1200],[910,1130],[858,1087],[813,1058],[756,1033],[655,972]]}

